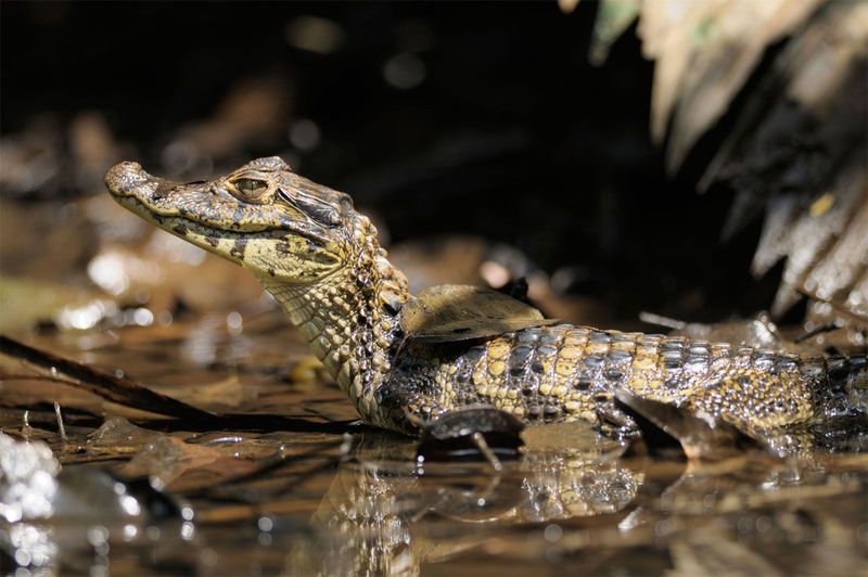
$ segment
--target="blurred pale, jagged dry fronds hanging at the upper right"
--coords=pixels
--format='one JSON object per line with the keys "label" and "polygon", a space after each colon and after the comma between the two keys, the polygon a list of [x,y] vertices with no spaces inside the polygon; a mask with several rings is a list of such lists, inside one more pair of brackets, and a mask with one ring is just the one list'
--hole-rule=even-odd
{"label": "blurred pale, jagged dry fronds hanging at the upper right", "polygon": [[604,1],[592,59],[635,17],[643,53],[655,61],[651,131],[662,142],[668,130],[669,170],[725,115],[732,119],[722,123],[699,187],[724,181],[737,191],[725,238],[765,210],[752,271],[760,277],[787,260],[773,313],[806,294],[842,310],[831,315],[837,322],[865,326],[868,4]]}

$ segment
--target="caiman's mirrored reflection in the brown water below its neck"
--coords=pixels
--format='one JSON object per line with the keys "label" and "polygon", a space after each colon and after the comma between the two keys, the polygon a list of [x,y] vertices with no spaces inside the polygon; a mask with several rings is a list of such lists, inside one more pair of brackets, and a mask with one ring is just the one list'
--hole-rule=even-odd
{"label": "caiman's mirrored reflection in the brown water below its neck", "polygon": [[529,453],[492,476],[481,464],[398,461],[412,456],[412,445],[374,437],[360,439],[356,459],[339,469],[310,522],[320,538],[291,552],[289,573],[416,575],[421,564],[454,557],[510,527],[616,514],[643,479],[617,452],[603,457],[590,447]]}

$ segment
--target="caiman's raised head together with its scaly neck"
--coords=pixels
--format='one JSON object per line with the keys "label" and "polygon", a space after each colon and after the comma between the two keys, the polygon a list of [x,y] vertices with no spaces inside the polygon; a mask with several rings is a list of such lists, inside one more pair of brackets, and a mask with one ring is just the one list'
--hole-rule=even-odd
{"label": "caiman's raised head together with its scaly neck", "polygon": [[375,392],[410,298],[407,279],[348,195],[296,175],[277,156],[186,183],[120,163],[106,172],[105,185],[149,222],[251,270],[361,415],[396,426]]}

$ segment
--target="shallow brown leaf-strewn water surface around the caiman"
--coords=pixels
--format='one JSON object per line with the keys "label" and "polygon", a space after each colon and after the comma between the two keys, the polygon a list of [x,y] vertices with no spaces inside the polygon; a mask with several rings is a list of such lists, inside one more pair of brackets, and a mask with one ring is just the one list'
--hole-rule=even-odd
{"label": "shallow brown leaf-strewn water surface around the caiman", "polygon": [[[41,566],[8,548],[4,572],[854,575],[868,562],[866,456],[697,464],[552,425],[500,473],[419,463],[413,439],[355,421],[276,312],[191,318],[26,341],[232,419],[143,413],[3,357],[0,427],[63,465],[54,516],[26,525],[47,543]],[[137,514],[106,489],[117,480]]]}

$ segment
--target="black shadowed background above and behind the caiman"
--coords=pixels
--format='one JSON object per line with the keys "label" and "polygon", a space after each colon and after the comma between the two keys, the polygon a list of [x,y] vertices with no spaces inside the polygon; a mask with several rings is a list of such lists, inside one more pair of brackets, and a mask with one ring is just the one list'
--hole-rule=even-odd
{"label": "black shadowed background above and behind the caiman", "polygon": [[[455,233],[509,243],[549,273],[570,271],[562,290],[621,318],[650,309],[720,320],[767,307],[779,272],[763,281],[748,272],[760,222],[723,243],[731,191],[694,191],[720,128],[667,177],[648,130],[653,63],[630,29],[604,66],[591,66],[596,10],[3,2],[0,123],[8,136],[42,115],[63,124],[99,111],[137,159],[164,174],[179,127],[213,115],[239,82],[278,78],[290,121],[312,120],[318,145],[294,149],[279,127],[215,158],[215,169],[289,156],[305,176],[353,194],[393,243]],[[288,24],[305,15],[336,24],[341,47],[291,46]],[[404,52],[425,67],[409,89],[383,74]],[[52,192],[86,193],[75,183]]]}

